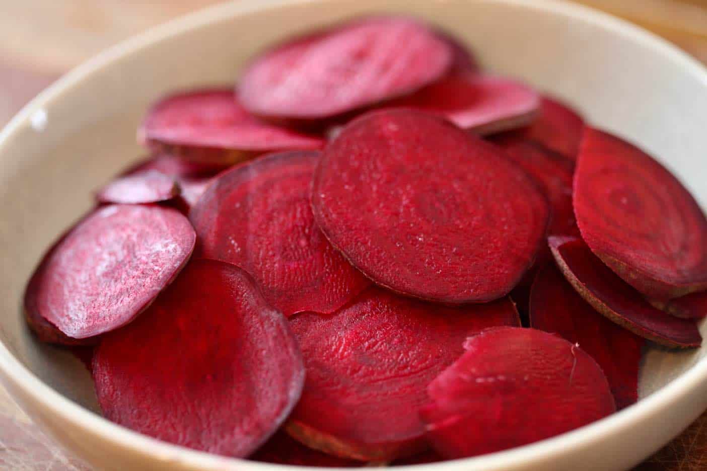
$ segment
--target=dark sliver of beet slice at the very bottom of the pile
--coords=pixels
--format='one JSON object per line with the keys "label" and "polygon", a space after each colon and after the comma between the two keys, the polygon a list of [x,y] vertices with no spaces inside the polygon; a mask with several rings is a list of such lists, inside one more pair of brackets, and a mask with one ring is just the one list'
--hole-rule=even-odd
{"label": "dark sliver of beet slice at the very bottom of the pile", "polygon": [[347,460],[338,456],[327,455],[296,441],[284,431],[278,431],[250,460],[278,465],[322,466],[322,467],[361,467],[366,463]]}

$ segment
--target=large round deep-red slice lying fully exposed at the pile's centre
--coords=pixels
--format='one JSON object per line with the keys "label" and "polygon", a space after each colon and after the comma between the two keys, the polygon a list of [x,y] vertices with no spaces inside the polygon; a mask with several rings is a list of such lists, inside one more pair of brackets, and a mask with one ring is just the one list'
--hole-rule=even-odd
{"label": "large round deep-red slice lying fully exposed at the pile's centre", "polygon": [[366,114],[329,143],[312,208],[374,282],[448,304],[508,294],[544,242],[549,214],[503,150],[410,109]]}

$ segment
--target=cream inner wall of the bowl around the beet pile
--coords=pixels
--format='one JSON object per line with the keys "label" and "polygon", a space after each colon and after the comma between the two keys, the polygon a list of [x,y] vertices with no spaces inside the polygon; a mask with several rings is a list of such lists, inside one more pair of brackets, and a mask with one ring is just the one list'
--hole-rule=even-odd
{"label": "cream inner wall of the bowl around the beet pile", "polygon": [[[83,67],[35,102],[0,142],[0,341],[35,375],[91,410],[97,410],[93,386],[78,359],[36,342],[25,327],[25,281],[54,237],[93,205],[92,191],[140,157],[135,130],[153,100],[180,88],[232,84],[250,56],[287,35],[362,13],[426,18],[469,44],[490,71],[522,78],[571,103],[595,126],[640,143],[707,204],[704,76],[670,48],[636,41],[630,29],[607,29],[574,9],[549,13],[530,1],[255,3],[222,8],[195,28],[163,30],[139,49],[145,40],[114,50],[104,65]],[[707,324],[701,330],[706,335]],[[704,354],[704,348],[648,347],[641,396]]]}

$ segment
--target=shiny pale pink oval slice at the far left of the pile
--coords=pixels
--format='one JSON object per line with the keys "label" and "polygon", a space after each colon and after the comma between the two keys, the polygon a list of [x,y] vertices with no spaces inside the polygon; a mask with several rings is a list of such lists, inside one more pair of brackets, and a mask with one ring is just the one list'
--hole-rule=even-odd
{"label": "shiny pale pink oval slice at the far left of the pile", "polygon": [[50,249],[28,285],[25,307],[71,338],[119,328],[175,278],[195,239],[177,210],[103,206]]}

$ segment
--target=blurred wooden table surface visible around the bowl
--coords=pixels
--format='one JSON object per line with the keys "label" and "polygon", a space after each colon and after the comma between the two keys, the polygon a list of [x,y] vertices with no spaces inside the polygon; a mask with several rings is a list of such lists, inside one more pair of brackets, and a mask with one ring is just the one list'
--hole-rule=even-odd
{"label": "blurred wooden table surface visible around the bowl", "polygon": [[[707,0],[577,0],[629,19],[707,64]],[[0,126],[62,73],[126,37],[216,0],[0,0]],[[0,470],[89,470],[0,386]],[[707,470],[707,412],[635,471]]]}

